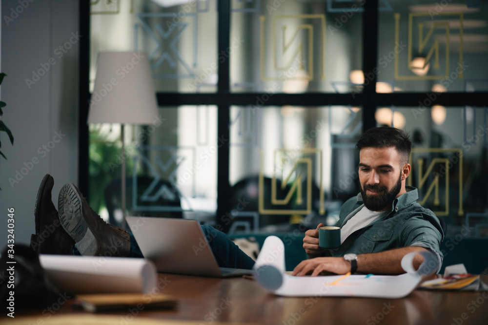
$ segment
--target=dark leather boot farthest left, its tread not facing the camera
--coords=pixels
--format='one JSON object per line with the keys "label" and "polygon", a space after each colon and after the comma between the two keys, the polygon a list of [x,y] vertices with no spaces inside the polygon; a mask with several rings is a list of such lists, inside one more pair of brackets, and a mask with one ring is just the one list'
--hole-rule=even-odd
{"label": "dark leather boot farthest left, its tread not facing the camera", "polygon": [[61,227],[58,211],[51,199],[54,179],[46,174],[37,192],[34,218],[36,233],[31,235],[30,246],[38,254],[73,255],[75,242]]}

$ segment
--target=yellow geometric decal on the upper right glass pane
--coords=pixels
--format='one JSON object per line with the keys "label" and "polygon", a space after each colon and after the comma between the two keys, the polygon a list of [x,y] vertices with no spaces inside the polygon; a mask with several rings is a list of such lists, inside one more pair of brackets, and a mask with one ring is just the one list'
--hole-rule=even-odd
{"label": "yellow geometric decal on the upper right glass pane", "polygon": [[[459,66],[463,66],[463,13],[438,13],[436,16],[456,16],[459,17]],[[394,14],[395,17],[395,44],[400,43],[400,18],[401,15],[399,13]],[[428,19],[425,20],[425,22],[418,22],[417,26],[418,27],[418,40],[419,43],[415,47],[418,49],[418,53],[415,56],[422,56],[424,49],[426,48],[427,41],[429,39],[433,39],[433,45],[430,47],[429,51],[427,52],[427,55],[425,56],[425,62],[424,66],[421,67],[422,69],[426,67],[428,64],[429,60],[434,56],[434,69],[439,69],[439,35],[433,35],[434,30],[438,27],[445,28],[446,30],[446,50],[445,50],[445,58],[446,58],[446,71],[445,75],[441,76],[400,76],[398,72],[398,66],[399,66],[399,55],[395,56],[395,79],[396,80],[436,80],[436,79],[444,79],[449,77],[449,41],[450,41],[450,30],[449,30],[449,22],[446,20],[440,20],[442,18],[439,17],[438,21],[434,21],[432,23],[432,19],[434,19],[431,16],[431,13],[409,13],[408,14],[408,45],[407,45],[407,51],[408,51],[408,60],[407,60],[407,67],[408,69],[412,69],[412,57],[413,57],[413,34],[416,28],[414,28],[414,18],[424,18],[428,17]],[[440,21],[439,21],[440,20]],[[427,31],[427,34],[424,37],[424,28],[425,25],[428,24],[430,25],[430,28]],[[419,68],[419,67],[416,67]],[[460,78],[463,78],[463,71],[458,73]]]}

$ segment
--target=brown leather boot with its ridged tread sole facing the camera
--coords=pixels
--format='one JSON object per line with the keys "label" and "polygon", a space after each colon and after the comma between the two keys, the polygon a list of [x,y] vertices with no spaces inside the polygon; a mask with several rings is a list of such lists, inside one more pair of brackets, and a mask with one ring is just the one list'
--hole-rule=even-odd
{"label": "brown leather boot with its ridged tread sole facing the camera", "polygon": [[81,255],[129,256],[129,233],[103,221],[73,183],[62,187],[58,210],[62,227],[75,240]]}

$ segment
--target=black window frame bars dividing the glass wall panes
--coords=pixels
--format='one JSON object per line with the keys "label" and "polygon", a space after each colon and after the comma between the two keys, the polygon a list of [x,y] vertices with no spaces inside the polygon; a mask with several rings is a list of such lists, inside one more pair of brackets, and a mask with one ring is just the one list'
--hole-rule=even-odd
{"label": "black window frame bars dividing the glass wall panes", "polygon": [[[218,51],[221,53],[230,46],[230,2],[231,0],[217,0],[218,2]],[[90,35],[90,4],[89,1],[80,1],[80,33]],[[364,4],[363,13],[363,71],[372,72],[378,62],[378,0],[368,0]],[[366,50],[367,49],[367,50]],[[78,184],[81,192],[88,196],[89,173],[88,173],[88,118],[89,109],[89,66],[90,66],[90,38],[80,39],[80,62],[79,62],[79,174]],[[217,105],[218,121],[217,134],[229,138],[230,106],[246,106],[255,102],[256,96],[261,97],[265,93],[231,93],[230,92],[230,69],[229,58],[219,60],[217,92],[210,94],[187,94],[158,92],[158,105],[164,107],[175,107],[180,105]],[[301,107],[317,107],[326,105],[352,105],[363,108],[363,131],[376,126],[374,113],[377,106],[417,106],[419,101],[426,97],[425,93],[376,93],[376,75],[364,86],[363,93],[355,94],[334,94],[334,93],[304,93],[304,94],[274,94],[264,103],[264,106],[299,105]],[[446,108],[459,106],[486,106],[488,92],[475,93],[444,93],[437,97],[436,105],[443,105]],[[226,202],[230,193],[229,183],[229,146],[221,146],[217,152],[217,214],[216,221],[224,215]]]}

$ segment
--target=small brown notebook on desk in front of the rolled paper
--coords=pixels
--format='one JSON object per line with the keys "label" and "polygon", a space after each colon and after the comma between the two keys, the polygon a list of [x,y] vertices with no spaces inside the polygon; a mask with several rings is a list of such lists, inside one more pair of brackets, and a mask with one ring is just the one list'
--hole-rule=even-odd
{"label": "small brown notebook on desk in front of the rolled paper", "polygon": [[83,309],[89,312],[136,308],[143,309],[173,309],[177,305],[176,299],[168,295],[149,295],[141,293],[118,294],[87,294],[78,295]]}

